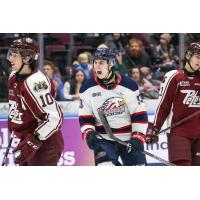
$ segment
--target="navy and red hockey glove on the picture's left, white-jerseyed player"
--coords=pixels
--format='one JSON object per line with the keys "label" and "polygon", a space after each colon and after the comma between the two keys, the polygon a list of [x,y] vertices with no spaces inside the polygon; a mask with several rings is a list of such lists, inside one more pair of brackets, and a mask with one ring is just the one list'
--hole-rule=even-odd
{"label": "navy and red hockey glove on the picture's left, white-jerseyed player", "polygon": [[99,142],[96,137],[96,132],[93,129],[87,129],[83,133],[83,139],[87,142],[90,149],[94,150],[99,147]]}

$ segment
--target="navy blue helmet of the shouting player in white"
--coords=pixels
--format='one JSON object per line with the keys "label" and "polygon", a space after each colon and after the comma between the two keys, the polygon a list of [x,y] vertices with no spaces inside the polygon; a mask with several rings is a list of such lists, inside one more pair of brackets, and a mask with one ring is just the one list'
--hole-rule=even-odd
{"label": "navy blue helmet of the shouting player in white", "polygon": [[93,54],[92,60],[102,59],[107,60],[109,65],[113,66],[116,63],[116,55],[115,53],[109,48],[97,48],[95,53]]}

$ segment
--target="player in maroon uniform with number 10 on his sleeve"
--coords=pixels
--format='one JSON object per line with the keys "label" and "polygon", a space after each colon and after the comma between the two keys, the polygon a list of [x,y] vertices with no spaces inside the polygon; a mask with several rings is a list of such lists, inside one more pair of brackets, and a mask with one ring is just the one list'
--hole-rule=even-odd
{"label": "player in maroon uniform with number 10 on his sleeve", "polygon": [[14,40],[7,59],[10,132],[20,138],[14,149],[19,165],[57,165],[63,150],[62,112],[54,99],[52,82],[37,69],[39,48],[35,40]]}

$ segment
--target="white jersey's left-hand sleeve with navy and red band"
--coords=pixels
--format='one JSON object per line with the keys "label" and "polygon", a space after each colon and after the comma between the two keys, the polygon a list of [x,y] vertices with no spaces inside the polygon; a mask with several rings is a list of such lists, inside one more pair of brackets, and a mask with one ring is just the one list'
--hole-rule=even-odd
{"label": "white jersey's left-hand sleeve with navy and red band", "polygon": [[80,94],[79,123],[82,133],[89,128],[95,130],[95,117],[89,101],[86,92]]}

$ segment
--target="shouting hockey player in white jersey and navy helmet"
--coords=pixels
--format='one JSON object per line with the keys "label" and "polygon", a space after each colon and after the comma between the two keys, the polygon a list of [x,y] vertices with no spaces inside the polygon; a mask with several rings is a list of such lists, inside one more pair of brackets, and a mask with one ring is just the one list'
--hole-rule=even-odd
{"label": "shouting hockey player in white jersey and navy helmet", "polygon": [[[116,74],[114,64],[115,53],[110,49],[98,48],[94,53],[95,76],[80,90],[81,132],[88,147],[94,151],[95,165],[145,165],[147,111],[136,83]],[[113,134],[130,143],[131,149],[106,134],[98,116],[99,110],[104,112]]]}

